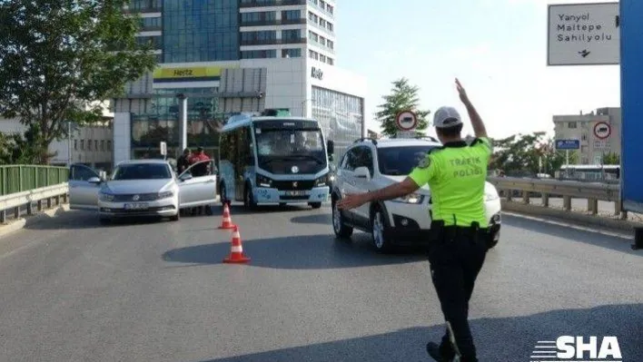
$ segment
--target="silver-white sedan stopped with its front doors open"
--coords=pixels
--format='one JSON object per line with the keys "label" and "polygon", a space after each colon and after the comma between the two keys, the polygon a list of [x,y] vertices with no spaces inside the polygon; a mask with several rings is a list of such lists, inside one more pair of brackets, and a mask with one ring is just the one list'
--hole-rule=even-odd
{"label": "silver-white sedan stopped with its front doors open", "polygon": [[124,161],[116,166],[109,180],[82,164],[70,168],[70,209],[96,210],[101,222],[140,216],[179,220],[180,210],[214,202],[213,161],[196,163],[178,176],[167,161]]}

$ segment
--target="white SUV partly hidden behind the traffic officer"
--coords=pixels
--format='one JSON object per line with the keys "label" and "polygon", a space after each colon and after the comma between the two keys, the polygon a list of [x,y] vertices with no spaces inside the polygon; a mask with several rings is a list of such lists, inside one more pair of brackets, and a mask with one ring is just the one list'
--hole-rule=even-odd
{"label": "white SUV partly hidden behind the traffic officer", "polygon": [[[403,181],[427,152],[440,147],[433,138],[372,140],[351,144],[341,157],[331,191],[332,229],[339,238],[350,238],[353,228],[370,232],[376,249],[426,243],[430,233],[430,190],[391,200],[371,202],[353,210],[338,210],[337,201],[346,193],[378,190]],[[500,197],[487,182],[485,207],[490,220],[490,246],[500,240]]]}

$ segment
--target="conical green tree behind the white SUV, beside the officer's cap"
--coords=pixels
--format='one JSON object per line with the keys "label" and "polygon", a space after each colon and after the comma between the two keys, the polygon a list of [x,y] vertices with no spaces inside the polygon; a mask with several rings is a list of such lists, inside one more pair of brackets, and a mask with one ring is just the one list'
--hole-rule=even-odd
{"label": "conical green tree behind the white SUV, beside the officer's cap", "polygon": [[397,125],[395,124],[395,116],[402,111],[412,111],[418,117],[416,134],[423,135],[429,126],[427,117],[430,111],[421,111],[418,109],[420,105],[420,97],[418,96],[420,88],[411,85],[406,78],[401,78],[392,82],[392,84],[391,94],[382,96],[384,103],[378,106],[381,111],[375,113],[375,117],[381,122],[382,133],[389,137],[395,136],[398,132]]}

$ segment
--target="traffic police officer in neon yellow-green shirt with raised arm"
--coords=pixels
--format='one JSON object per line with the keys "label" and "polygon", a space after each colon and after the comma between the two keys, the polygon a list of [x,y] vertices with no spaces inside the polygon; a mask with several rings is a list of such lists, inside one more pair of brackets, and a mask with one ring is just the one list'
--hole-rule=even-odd
{"label": "traffic police officer in neon yellow-green shirt with raised arm", "polygon": [[459,356],[461,362],[477,362],[468,322],[469,300],[489,249],[484,188],[492,147],[484,123],[457,79],[456,85],[476,139],[465,142],[458,111],[440,107],[433,125],[442,147],[430,152],[404,181],[378,191],[345,195],[338,206],[354,209],[366,202],[396,199],[429,184],[430,273],[447,332],[440,345],[430,342],[427,351],[437,361]]}

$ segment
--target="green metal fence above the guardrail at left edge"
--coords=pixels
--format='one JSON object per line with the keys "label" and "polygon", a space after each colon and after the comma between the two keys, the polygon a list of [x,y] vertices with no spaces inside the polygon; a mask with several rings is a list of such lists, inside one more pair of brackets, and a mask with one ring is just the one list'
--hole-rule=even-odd
{"label": "green metal fence above the guardrail at left edge", "polygon": [[0,166],[0,196],[54,186],[69,180],[66,167],[39,165]]}

